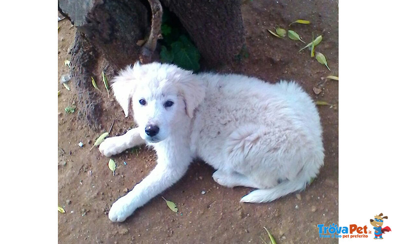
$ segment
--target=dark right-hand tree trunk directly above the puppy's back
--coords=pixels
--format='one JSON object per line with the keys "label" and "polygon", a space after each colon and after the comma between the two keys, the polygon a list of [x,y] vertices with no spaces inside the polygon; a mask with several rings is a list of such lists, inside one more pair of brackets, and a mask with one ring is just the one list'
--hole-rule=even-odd
{"label": "dark right-hand tree trunk directly above the puppy's back", "polygon": [[203,61],[231,61],[245,43],[241,0],[163,0],[190,34]]}

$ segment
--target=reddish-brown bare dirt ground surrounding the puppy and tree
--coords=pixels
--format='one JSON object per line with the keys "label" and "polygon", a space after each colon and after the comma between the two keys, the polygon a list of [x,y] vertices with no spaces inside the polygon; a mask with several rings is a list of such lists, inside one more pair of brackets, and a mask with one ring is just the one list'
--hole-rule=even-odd
{"label": "reddish-brown bare dirt ground surrounding the puppy and tree", "polygon": [[[59,83],[58,90],[58,242],[67,244],[104,243],[269,243],[265,226],[278,244],[319,242],[318,224],[338,223],[338,1],[320,0],[245,0],[242,5],[246,28],[246,51],[229,66],[215,71],[241,73],[269,82],[295,80],[315,101],[334,106],[318,106],[323,126],[325,164],[318,177],[305,191],[290,194],[265,204],[246,204],[239,200],[252,189],[225,188],[211,178],[213,168],[194,162],[187,174],[173,187],[154,197],[123,223],[112,223],[108,217],[111,204],[140,182],[155,165],[155,154],[147,148],[128,150],[112,157],[117,162],[115,175],[107,167],[108,158],[97,148],[90,151],[96,138],[108,131],[122,135],[133,121],[124,118],[121,107],[101,81],[104,111],[102,131],[95,132],[78,119],[78,110],[66,113],[64,108],[77,104],[73,81],[71,91]],[[311,24],[293,24],[302,40],[310,42],[312,33],[323,35],[316,48],[322,52],[331,69],[310,58],[305,45],[272,36],[267,29],[276,26],[288,29],[297,19]],[[64,60],[70,60],[69,49],[75,27],[68,20],[59,21],[58,79],[67,74]],[[320,89],[317,95],[313,88]],[[318,93],[318,90],[316,90]],[[84,146],[78,146],[82,142]],[[125,163],[124,163],[125,162]],[[205,194],[202,194],[203,191]],[[178,213],[172,212],[161,196],[175,202]],[[338,243],[322,239],[321,243]]]}

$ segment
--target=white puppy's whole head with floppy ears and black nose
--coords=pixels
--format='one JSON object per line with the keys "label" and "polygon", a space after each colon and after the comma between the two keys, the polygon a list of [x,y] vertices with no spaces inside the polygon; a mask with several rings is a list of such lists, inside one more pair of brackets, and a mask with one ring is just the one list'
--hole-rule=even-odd
{"label": "white puppy's whole head with floppy ears and black nose", "polygon": [[204,83],[192,71],[156,62],[125,68],[111,87],[125,117],[132,104],[141,137],[152,143],[166,139],[181,116],[192,118],[205,96]]}

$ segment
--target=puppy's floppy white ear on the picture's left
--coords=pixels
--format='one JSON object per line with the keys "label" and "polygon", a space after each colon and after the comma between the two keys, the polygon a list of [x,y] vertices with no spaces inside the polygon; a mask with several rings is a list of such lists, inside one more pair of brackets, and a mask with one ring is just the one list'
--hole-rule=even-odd
{"label": "puppy's floppy white ear on the picture's left", "polygon": [[135,63],[133,68],[127,66],[120,71],[119,75],[113,79],[111,84],[114,97],[124,110],[125,117],[128,117],[129,104],[136,88],[134,70],[139,69],[139,66],[140,64],[138,62]]}

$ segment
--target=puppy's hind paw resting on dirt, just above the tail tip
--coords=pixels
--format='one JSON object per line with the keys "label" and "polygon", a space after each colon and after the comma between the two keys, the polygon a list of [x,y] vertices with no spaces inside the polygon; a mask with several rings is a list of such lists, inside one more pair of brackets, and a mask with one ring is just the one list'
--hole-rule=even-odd
{"label": "puppy's hind paw resting on dirt, just above the tail tip", "polygon": [[252,187],[252,188],[259,188],[257,184],[250,181],[245,175],[240,174],[238,172],[225,172],[222,170],[217,170],[212,175],[213,180],[218,184],[224,187],[236,187],[236,186],[243,186],[243,187]]}

